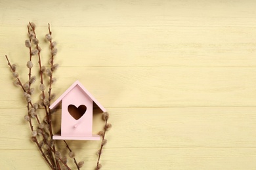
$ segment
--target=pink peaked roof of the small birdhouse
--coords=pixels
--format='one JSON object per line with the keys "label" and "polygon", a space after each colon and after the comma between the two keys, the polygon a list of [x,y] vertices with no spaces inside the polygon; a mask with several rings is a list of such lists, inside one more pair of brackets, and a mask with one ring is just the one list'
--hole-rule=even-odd
{"label": "pink peaked roof of the small birdhouse", "polygon": [[93,102],[100,108],[100,110],[102,110],[102,112],[106,112],[106,109],[104,107],[102,107],[102,105],[100,105],[100,103],[98,103],[98,101],[95,99],[95,97],[93,97],[93,95],[91,95],[91,93],[81,84],[81,82],[79,82],[78,80],[76,80],[72,86],[70,86],[70,88],[68,88],[68,90],[66,90],[62,95],[60,95],[60,97],[58,97],[58,99],[56,99],[56,101],[54,101],[54,103],[50,106],[50,109],[54,109],[55,107],[57,107],[60,104],[60,101],[62,101],[62,99],[68,95],[68,93],[70,91],[72,91],[75,86],[79,86],[79,88],[81,88],[81,92],[85,93],[85,95],[89,96]]}

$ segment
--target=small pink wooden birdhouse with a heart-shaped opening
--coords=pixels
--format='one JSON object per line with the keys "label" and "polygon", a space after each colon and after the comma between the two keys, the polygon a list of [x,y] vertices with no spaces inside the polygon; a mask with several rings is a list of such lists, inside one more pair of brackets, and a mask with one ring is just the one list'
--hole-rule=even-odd
{"label": "small pink wooden birdhouse with a heart-shaped opening", "polygon": [[106,112],[106,109],[78,80],[54,101],[50,109],[56,108],[61,101],[61,134],[54,135],[53,139],[100,140],[99,135],[92,134],[93,104],[97,105],[102,112]]}

